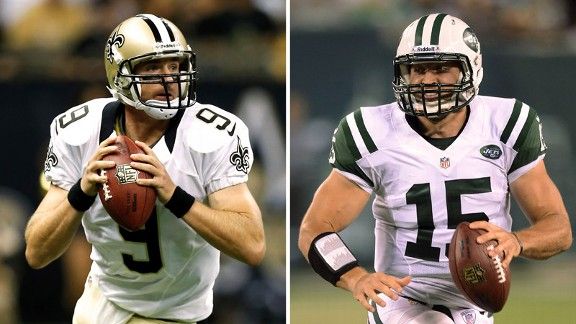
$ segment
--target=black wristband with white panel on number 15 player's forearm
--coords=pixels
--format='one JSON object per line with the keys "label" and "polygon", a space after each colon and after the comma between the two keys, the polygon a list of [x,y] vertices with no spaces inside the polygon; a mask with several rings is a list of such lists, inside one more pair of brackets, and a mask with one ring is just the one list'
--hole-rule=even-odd
{"label": "black wristband with white panel on number 15 player's forearm", "polygon": [[340,277],[358,266],[358,260],[335,232],[321,233],[312,240],[308,262],[324,280],[336,286]]}

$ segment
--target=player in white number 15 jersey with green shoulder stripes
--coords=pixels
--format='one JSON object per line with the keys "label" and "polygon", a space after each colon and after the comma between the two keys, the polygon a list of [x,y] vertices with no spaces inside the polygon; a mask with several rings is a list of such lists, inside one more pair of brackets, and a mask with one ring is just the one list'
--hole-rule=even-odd
{"label": "player in white number 15 jersey with green shoulder stripes", "polygon": [[[546,172],[540,120],[516,99],[478,95],[480,43],[462,20],[431,14],[402,34],[394,59],[396,102],[362,107],[334,132],[332,172],[300,228],[312,268],[350,291],[369,323],[493,323],[451,279],[456,226],[498,241],[491,256],[545,259],[572,243],[561,195]],[[375,198],[376,272],[338,232]],[[531,226],[511,232],[510,194]]]}

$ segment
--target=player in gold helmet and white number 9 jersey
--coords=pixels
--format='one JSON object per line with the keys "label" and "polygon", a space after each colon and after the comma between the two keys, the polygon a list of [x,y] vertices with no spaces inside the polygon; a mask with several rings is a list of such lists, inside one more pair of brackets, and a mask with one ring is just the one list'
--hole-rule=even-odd
{"label": "player in gold helmet and white number 9 jersey", "polygon": [[[57,116],[45,163],[50,189],[26,229],[26,258],[42,268],[67,249],[82,223],[92,268],[74,323],[193,323],[212,312],[220,252],[250,265],[264,256],[259,207],[246,181],[253,155],[236,116],[196,102],[195,54],[170,21],[122,22],[104,51],[111,98]],[[129,232],[106,213],[100,169],[117,135],[145,154],[131,166],[157,192],[145,227]]]}

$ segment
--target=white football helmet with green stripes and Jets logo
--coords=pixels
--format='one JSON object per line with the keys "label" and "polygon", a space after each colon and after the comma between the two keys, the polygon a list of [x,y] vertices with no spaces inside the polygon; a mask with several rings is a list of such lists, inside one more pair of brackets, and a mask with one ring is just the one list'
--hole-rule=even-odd
{"label": "white football helmet with green stripes and Jets logo", "polygon": [[[457,62],[456,84],[412,84],[410,67],[418,63]],[[413,21],[402,34],[394,59],[392,86],[400,109],[413,116],[441,117],[470,103],[482,82],[482,54],[476,34],[462,20],[431,14]],[[426,101],[425,94],[436,99]]]}

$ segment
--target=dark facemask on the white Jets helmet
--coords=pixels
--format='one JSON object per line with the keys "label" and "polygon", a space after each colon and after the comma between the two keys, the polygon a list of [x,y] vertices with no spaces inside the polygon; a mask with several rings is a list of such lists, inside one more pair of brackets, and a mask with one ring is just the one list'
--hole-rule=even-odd
{"label": "dark facemask on the white Jets helmet", "polygon": [[[449,62],[456,62],[460,68],[458,82],[454,84],[410,82],[410,69],[413,65]],[[428,53],[397,57],[394,59],[393,88],[400,109],[413,116],[437,118],[465,107],[476,94],[470,71],[468,58],[462,54]],[[435,95],[434,100],[427,99],[427,95]]]}

